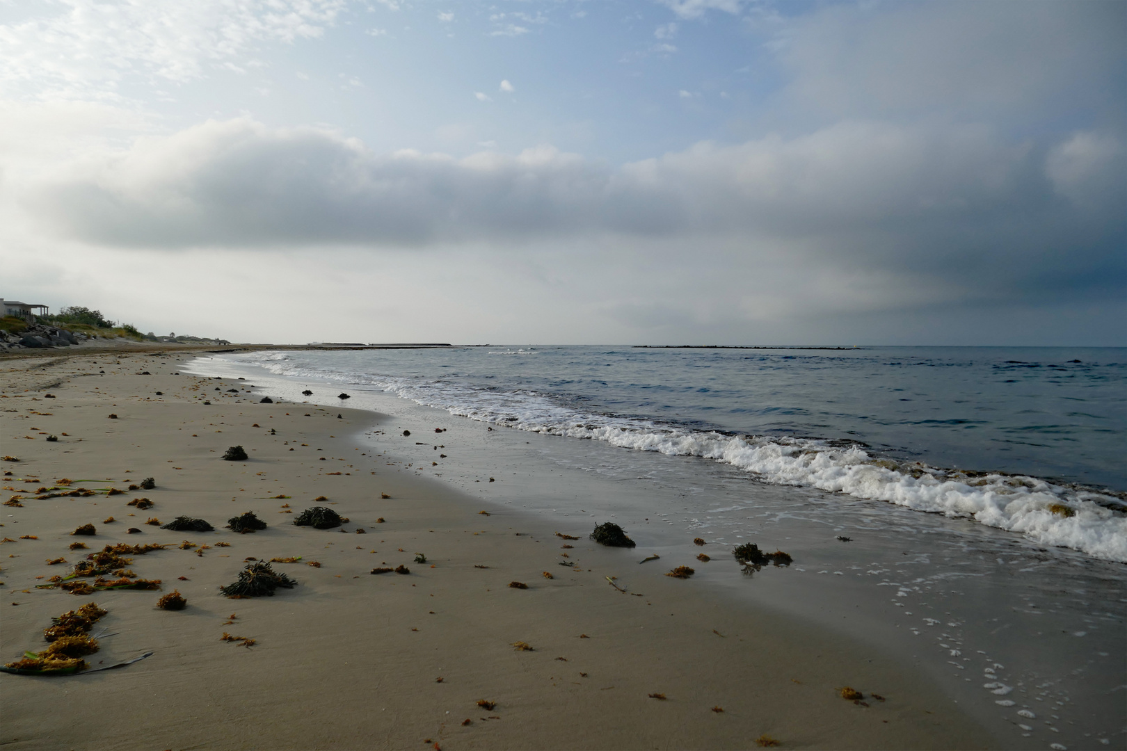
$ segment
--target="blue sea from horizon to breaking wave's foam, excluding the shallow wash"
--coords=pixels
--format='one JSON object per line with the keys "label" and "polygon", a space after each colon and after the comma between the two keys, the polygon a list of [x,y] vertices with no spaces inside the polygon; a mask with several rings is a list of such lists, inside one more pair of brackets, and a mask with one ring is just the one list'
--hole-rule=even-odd
{"label": "blue sea from horizon to breaking wave's foam, excluding the shallow wash", "polygon": [[242,359],[1127,562],[1124,349],[483,347]]}

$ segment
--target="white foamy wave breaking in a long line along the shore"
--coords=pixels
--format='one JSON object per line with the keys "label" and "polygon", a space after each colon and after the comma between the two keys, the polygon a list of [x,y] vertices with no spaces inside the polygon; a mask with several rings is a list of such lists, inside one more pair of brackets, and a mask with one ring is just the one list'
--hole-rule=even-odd
{"label": "white foamy wave breaking in a long line along the shore", "polygon": [[729,435],[600,414],[568,405],[559,396],[526,390],[322,369],[299,364],[283,352],[259,352],[240,359],[291,378],[371,386],[490,424],[669,456],[696,456],[738,467],[763,482],[817,488],[915,511],[974,519],[1023,534],[1042,545],[1127,563],[1127,503],[1121,494],[1094,488],[1001,472],[932,467],[881,456],[851,441]]}

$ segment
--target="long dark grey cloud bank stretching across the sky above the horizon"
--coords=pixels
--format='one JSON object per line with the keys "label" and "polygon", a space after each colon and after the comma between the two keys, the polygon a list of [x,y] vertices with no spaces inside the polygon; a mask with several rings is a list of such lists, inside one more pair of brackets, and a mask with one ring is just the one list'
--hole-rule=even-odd
{"label": "long dark grey cloud bank stretching across the sky above the horizon", "polygon": [[[842,122],[700,143],[616,169],[550,147],[463,159],[375,154],[316,128],[207,122],[26,191],[44,227],[148,249],[770,240],[835,265],[1009,287],[1122,284],[1127,151],[1080,131],[1038,145],[985,126]],[[773,251],[778,252],[778,250]],[[978,283],[975,283],[978,284]],[[1028,290],[1027,290],[1028,292]],[[1019,295],[1020,296],[1020,295]]]}

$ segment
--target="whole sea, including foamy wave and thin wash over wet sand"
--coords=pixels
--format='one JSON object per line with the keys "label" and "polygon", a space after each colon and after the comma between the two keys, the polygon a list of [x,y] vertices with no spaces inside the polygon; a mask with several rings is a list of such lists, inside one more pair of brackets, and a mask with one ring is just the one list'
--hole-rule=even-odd
{"label": "whole sea, including foamy wave and thin wash over wet sand", "polygon": [[696,537],[786,549],[696,579],[891,650],[1005,748],[1127,748],[1127,349],[310,349],[185,370],[388,414],[357,436],[388,463],[571,534],[614,520],[677,563]]}

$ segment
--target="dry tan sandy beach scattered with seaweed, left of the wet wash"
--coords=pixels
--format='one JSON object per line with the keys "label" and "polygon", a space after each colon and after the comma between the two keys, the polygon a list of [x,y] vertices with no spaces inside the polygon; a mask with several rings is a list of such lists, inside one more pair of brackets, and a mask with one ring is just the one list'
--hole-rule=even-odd
{"label": "dry tan sandy beach scattered with seaweed, left of the wet wash", "polygon": [[[0,656],[44,649],[51,617],[89,601],[108,609],[99,626],[114,634],[91,664],[153,652],[87,676],[0,674],[0,742],[10,748],[715,749],[756,748],[761,737],[779,748],[996,744],[916,672],[870,647],[719,604],[692,579],[664,576],[662,562],[639,567],[636,552],[595,545],[589,529],[478,513],[471,498],[354,440],[379,415],[260,404],[239,382],[177,375],[183,357],[0,360],[0,453],[19,458],[2,464],[12,473],[3,494],[23,497],[2,512],[0,536],[12,542],[0,545]],[[233,445],[250,458],[222,461]],[[35,499],[63,477],[125,490],[147,476],[156,489]],[[349,522],[329,530],[290,524],[289,511],[321,495]],[[127,506],[142,497],[153,508]],[[223,528],[250,510],[269,527]],[[144,524],[181,515],[216,531]],[[70,536],[83,524],[97,535]],[[68,549],[77,539],[91,549],[168,544],[131,565],[162,580],[162,591],[36,589],[66,573],[46,561],[81,558]],[[183,540],[211,547],[180,549]],[[419,553],[426,563],[415,562]],[[219,593],[246,558],[287,556],[301,561],[274,566],[300,582],[294,589],[257,599]],[[410,574],[369,573],[400,564]],[[627,593],[606,579],[624,572]],[[188,607],[156,608],[174,588]],[[255,644],[223,642],[224,632]],[[846,701],[843,686],[885,700]],[[496,706],[483,709],[479,699]]]}

